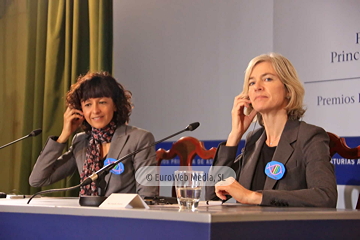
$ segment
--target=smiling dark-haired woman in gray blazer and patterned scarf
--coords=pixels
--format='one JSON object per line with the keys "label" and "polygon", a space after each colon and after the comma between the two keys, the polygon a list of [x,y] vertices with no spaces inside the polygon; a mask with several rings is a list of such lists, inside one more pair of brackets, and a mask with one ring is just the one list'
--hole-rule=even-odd
{"label": "smiling dark-haired woman in gray blazer and patterned scarf", "polygon": [[[154,143],[154,136],[143,129],[128,125],[132,110],[131,93],[109,73],[88,73],[80,76],[67,93],[68,108],[59,137],[50,137],[38,157],[29,183],[33,187],[47,186],[78,170],[81,181],[104,166],[104,160],[119,159],[139,148]],[[76,129],[66,153],[63,149]],[[105,176],[99,192],[97,183],[80,189],[82,196],[98,196],[105,192],[158,195],[157,186],[140,185],[135,172],[145,166],[156,166],[155,149],[150,147],[122,161],[118,170]]]}

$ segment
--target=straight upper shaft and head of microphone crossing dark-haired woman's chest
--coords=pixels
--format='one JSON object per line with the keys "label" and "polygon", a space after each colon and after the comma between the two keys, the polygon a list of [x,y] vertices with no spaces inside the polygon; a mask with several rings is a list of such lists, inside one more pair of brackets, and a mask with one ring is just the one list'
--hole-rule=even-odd
{"label": "straight upper shaft and head of microphone crossing dark-haired woman's chest", "polygon": [[89,177],[87,177],[82,183],[80,183],[80,186],[81,186],[81,187],[86,186],[86,185],[94,182],[95,180],[97,180],[100,176],[108,174],[108,172],[109,172],[111,169],[113,169],[119,162],[123,161],[124,159],[126,159],[126,158],[128,158],[128,157],[131,157],[131,156],[133,156],[133,155],[135,155],[135,154],[137,154],[137,153],[139,153],[139,152],[141,152],[141,151],[143,151],[143,150],[145,150],[145,149],[148,149],[148,148],[150,148],[150,147],[153,147],[153,146],[155,146],[156,144],[161,143],[161,142],[163,142],[163,141],[165,141],[165,140],[167,140],[167,139],[169,139],[169,138],[172,138],[172,137],[174,137],[174,136],[176,136],[176,135],[179,135],[180,133],[183,133],[183,132],[186,132],[186,131],[194,131],[194,130],[197,129],[199,126],[200,126],[200,123],[199,123],[199,122],[191,123],[191,124],[189,124],[185,129],[183,129],[183,130],[181,130],[181,131],[179,131],[179,132],[177,132],[177,133],[174,133],[174,134],[172,134],[172,135],[170,135],[170,136],[168,136],[168,137],[166,137],[166,138],[163,138],[163,139],[161,139],[161,140],[159,140],[159,141],[154,142],[153,144],[150,144],[149,146],[146,146],[146,147],[137,149],[137,150],[135,150],[134,152],[131,152],[131,153],[123,156],[122,158],[116,160],[115,162],[112,162],[112,163],[110,163],[109,165],[106,165],[106,166],[102,167],[101,169],[99,169],[98,171],[96,171],[95,173],[91,174],[91,175],[90,175]]}

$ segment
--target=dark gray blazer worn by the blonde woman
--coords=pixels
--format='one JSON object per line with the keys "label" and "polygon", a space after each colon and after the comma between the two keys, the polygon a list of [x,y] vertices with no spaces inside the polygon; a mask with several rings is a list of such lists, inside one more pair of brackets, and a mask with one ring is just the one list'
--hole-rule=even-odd
{"label": "dark gray blazer worn by the blonde woman", "polygon": [[[250,133],[243,153],[236,159],[237,147],[222,144],[213,165],[232,167],[239,183],[250,189],[265,140],[264,128]],[[336,207],[337,186],[330,163],[329,137],[322,128],[289,120],[272,160],[283,163],[286,172],[280,180],[266,177],[261,205]],[[206,199],[215,197],[214,187],[207,187]]]}

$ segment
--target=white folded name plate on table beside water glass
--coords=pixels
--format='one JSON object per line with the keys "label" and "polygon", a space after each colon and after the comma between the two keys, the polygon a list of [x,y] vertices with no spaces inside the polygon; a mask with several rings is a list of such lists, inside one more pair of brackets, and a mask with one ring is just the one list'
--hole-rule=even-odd
{"label": "white folded name plate on table beside water glass", "polygon": [[135,193],[112,193],[99,208],[145,208],[149,209],[149,206],[144,200]]}

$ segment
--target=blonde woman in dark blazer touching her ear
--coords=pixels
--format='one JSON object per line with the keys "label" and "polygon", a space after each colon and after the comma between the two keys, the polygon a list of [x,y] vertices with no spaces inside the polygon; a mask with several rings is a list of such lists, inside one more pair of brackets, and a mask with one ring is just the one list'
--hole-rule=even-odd
{"label": "blonde woman in dark blazer touching her ear", "polygon": [[[250,61],[243,91],[234,100],[231,132],[213,164],[233,167],[237,179],[218,183],[215,191],[208,189],[208,199],[216,194],[244,204],[336,207],[329,138],[322,128],[300,120],[303,97],[296,70],[284,56],[270,53]],[[261,128],[247,135],[243,153],[236,158],[237,146],[255,117]]]}

